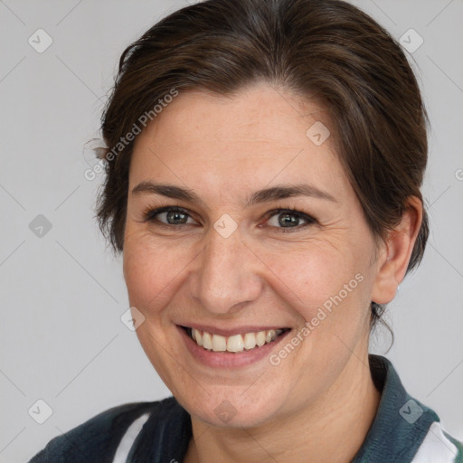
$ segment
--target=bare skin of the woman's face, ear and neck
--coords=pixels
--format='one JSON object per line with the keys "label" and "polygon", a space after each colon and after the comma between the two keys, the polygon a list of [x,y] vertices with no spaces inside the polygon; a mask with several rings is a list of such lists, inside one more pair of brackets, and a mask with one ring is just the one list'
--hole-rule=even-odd
{"label": "bare skin of the woman's face, ear and neck", "polygon": [[[316,121],[331,127],[321,146],[306,135]],[[191,414],[188,463],[348,462],[372,424],[380,392],[368,368],[369,304],[394,297],[421,204],[411,198],[397,228],[375,241],[334,138],[321,106],[263,83],[228,98],[181,93],[137,137],[124,276],[130,305],[145,317],[139,341]],[[147,180],[189,188],[203,203],[131,193]],[[299,183],[335,201],[294,196],[243,205],[260,188]],[[163,227],[165,213],[144,222],[146,209],[167,205],[184,208],[188,223]],[[266,215],[278,208],[317,222],[296,221],[284,233],[279,214]],[[228,238],[213,228],[222,214],[237,224]],[[232,370],[204,366],[176,328],[275,325],[295,334],[359,273],[363,281],[278,366],[268,358]],[[227,423],[214,412],[224,400],[236,411]]]}

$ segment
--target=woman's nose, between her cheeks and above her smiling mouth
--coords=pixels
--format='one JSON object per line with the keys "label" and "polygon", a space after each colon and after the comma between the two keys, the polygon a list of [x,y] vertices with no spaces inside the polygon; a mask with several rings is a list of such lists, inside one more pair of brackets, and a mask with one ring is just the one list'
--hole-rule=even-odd
{"label": "woman's nose, between her cheeks and above her smiling mouth", "polygon": [[262,262],[238,230],[224,238],[213,228],[190,273],[191,296],[214,314],[239,310],[260,297]]}

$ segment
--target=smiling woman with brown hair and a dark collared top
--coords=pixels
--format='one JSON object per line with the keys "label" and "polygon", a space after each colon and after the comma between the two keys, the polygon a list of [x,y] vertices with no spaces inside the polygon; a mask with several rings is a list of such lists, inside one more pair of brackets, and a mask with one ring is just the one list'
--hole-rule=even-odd
{"label": "smiling woman with brown hair and a dark collared top", "polygon": [[209,0],[130,45],[98,216],[173,396],[31,461],[463,461],[368,354],[428,238],[426,119],[400,46],[342,1]]}

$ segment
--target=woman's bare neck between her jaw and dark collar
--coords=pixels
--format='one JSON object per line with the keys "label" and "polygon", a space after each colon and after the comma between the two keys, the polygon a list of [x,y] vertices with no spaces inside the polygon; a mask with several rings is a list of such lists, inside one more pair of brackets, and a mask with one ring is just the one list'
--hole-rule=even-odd
{"label": "woman's bare neck between her jaw and dark collar", "polygon": [[368,354],[353,354],[339,381],[317,404],[254,428],[215,428],[192,417],[186,463],[240,461],[348,463],[360,449],[381,398]]}

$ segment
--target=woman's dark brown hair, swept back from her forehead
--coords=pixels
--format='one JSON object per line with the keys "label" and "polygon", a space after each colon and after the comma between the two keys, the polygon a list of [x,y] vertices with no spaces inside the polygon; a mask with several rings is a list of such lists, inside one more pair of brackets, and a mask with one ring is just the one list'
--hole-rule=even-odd
{"label": "woman's dark brown hair, swept back from her forehead", "polygon": [[[101,118],[113,156],[108,148],[97,212],[115,251],[123,249],[133,148],[125,137],[140,117],[173,89],[231,95],[257,81],[327,109],[373,236],[400,222],[410,196],[422,202],[429,120],[402,48],[383,27],[341,0],[208,0],[168,15],[120,57]],[[407,271],[420,263],[428,234],[423,211]],[[372,327],[383,310],[372,302]]]}

